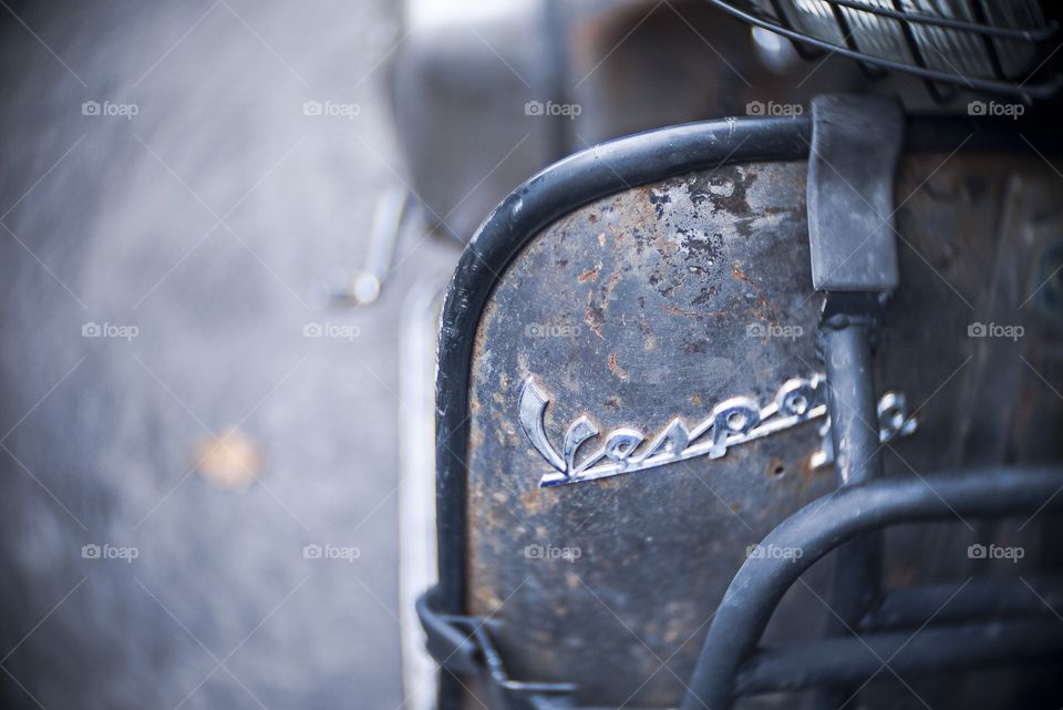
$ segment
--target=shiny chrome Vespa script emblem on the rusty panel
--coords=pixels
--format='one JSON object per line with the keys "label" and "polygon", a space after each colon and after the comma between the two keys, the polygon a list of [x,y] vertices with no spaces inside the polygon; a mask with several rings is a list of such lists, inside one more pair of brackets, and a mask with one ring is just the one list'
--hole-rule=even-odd
{"label": "shiny chrome Vespa script emblem on the rusty panel", "polygon": [[[541,487],[595,481],[696,456],[720,459],[731,446],[821,418],[826,420],[819,430],[824,441],[822,449],[813,454],[812,462],[815,466],[834,462],[829,420],[826,418],[826,380],[823,374],[787,380],[778,388],[774,400],[763,408],[749,397],[724,400],[693,429],[688,429],[683,420],[673,419],[644,447],[644,436],[640,431],[616,429],[606,435],[597,451],[578,462],[576,454],[580,447],[600,432],[588,416],[580,416],[569,425],[558,453],[547,438],[544,424],[549,402],[536,383],[535,375],[529,375],[520,389],[520,426],[532,446],[553,467],[553,471],[543,474],[539,481]],[[881,397],[878,416],[879,438],[884,442],[916,430],[916,420],[908,415],[905,395],[900,392],[887,392]]]}

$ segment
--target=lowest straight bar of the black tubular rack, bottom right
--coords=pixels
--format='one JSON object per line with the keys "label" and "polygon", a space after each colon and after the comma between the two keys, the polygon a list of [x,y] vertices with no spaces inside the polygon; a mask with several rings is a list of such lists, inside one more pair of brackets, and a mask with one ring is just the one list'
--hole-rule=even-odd
{"label": "lowest straight bar of the black tubular rack, bottom right", "polygon": [[928,676],[1061,654],[1063,634],[1055,624],[1041,620],[928,628],[915,636],[907,631],[870,634],[761,649],[739,673],[736,691],[745,696],[860,685],[880,672],[885,678],[895,678],[894,673]]}

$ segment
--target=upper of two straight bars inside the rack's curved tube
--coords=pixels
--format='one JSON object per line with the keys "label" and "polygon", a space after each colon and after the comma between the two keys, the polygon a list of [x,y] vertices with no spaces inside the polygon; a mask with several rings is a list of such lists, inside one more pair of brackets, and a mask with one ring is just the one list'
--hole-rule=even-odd
{"label": "upper of two straight bars inside the rack's curved tube", "polygon": [[981,577],[896,589],[861,621],[864,630],[919,628],[988,617],[1029,617],[1063,606],[1063,575]]}

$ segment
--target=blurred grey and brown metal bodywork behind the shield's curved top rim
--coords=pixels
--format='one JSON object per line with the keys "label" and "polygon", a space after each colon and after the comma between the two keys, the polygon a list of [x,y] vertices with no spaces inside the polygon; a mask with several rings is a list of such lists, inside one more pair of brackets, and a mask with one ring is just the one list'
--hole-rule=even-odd
{"label": "blurred grey and brown metal bodywork behind the shield's curved top rim", "polygon": [[462,241],[529,175],[600,141],[861,83],[852,63],[762,61],[750,28],[703,2],[433,7],[406,3],[395,115],[430,219]]}

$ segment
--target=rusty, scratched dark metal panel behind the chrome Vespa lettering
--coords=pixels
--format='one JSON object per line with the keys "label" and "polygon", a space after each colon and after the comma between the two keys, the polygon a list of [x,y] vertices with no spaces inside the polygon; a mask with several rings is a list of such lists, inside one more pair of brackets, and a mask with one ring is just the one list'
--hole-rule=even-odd
{"label": "rusty, scratched dark metal panel behind the chrome Vespa lettering", "polygon": [[[877,378],[921,405],[922,423],[887,450],[890,475],[1059,453],[1045,432],[1059,431],[1060,402],[1020,356],[1059,381],[1060,332],[1042,309],[1016,309],[1039,245],[1060,234],[1059,191],[1035,162],[985,171],[984,156],[906,158],[898,177],[902,287]],[[550,398],[558,450],[581,414],[602,434],[633,426],[651,439],[674,416],[692,425],[734,395],[766,404],[813,374],[821,302],[805,233],[804,163],[724,166],[578,209],[502,275],[471,383],[467,606],[493,615],[513,677],[576,681],[584,702],[675,703],[746,546],[833,487],[833,472],[809,467],[819,440],[806,423],[723,459],[540,490],[548,466],[517,421],[529,374]],[[1028,337],[968,337],[994,318]],[[969,573],[972,533],[956,527],[891,535],[890,582]],[[1012,528],[988,534],[1013,539]],[[568,559],[529,556],[535,545],[569,548]],[[822,629],[828,611],[811,589],[828,565],[814,572],[770,637]]]}

